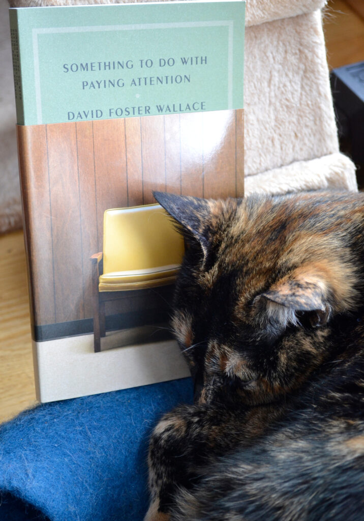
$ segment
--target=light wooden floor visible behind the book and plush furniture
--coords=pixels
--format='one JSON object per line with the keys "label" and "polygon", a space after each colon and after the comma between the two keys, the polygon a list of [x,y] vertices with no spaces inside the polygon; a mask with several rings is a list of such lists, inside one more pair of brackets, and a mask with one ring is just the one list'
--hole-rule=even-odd
{"label": "light wooden floor visible behind the book and plush furniture", "polygon": [[[329,1],[324,27],[331,68],[364,59],[361,3],[362,0]],[[0,421],[3,421],[32,406],[35,392],[22,232],[0,237],[0,253]]]}

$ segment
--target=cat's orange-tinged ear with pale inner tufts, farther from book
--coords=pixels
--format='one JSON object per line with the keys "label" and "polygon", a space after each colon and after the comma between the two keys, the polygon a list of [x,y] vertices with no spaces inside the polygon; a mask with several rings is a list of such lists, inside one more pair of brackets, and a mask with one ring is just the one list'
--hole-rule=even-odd
{"label": "cat's orange-tinged ear with pale inner tufts, farther from book", "polygon": [[329,283],[320,272],[301,267],[279,280],[260,296],[266,299],[269,318],[283,326],[298,322],[296,313],[307,313],[311,326],[326,324],[331,313]]}

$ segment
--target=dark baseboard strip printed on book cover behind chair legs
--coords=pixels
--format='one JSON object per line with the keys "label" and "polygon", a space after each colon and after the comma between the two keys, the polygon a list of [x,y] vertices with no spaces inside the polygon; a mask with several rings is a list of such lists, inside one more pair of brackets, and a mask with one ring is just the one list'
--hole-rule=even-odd
{"label": "dark baseboard strip printed on book cover behind chair legs", "polygon": [[[130,329],[144,325],[154,325],[156,333],[153,335],[153,342],[162,340],[170,340],[173,338],[169,329],[160,329],[158,324],[165,323],[166,314],[159,314],[156,310],[151,310],[145,319],[145,315],[141,313],[122,313],[117,315],[109,315],[106,317],[106,331],[118,331],[122,329]],[[121,327],[122,325],[122,327]],[[68,322],[58,322],[57,324],[47,324],[34,327],[34,340],[36,342],[45,342],[48,340],[57,340],[67,337],[77,337],[83,334],[93,333],[93,319],[84,318],[82,320],[70,320]]]}

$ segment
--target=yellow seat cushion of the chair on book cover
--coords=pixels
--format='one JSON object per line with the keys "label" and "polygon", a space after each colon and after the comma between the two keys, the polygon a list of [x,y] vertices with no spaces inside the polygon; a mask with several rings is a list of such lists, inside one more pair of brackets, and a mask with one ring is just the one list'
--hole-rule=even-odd
{"label": "yellow seat cushion of the chair on book cover", "polygon": [[99,277],[98,290],[130,291],[166,286],[174,282],[179,269],[179,264],[169,264],[148,269],[111,271]]}

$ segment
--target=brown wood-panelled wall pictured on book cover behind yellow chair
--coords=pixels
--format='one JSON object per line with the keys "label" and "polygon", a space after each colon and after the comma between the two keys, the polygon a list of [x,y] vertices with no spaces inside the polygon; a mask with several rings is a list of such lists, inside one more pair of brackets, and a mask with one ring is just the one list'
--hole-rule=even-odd
{"label": "brown wood-panelled wall pictured on book cover behind yellow chair", "polygon": [[153,190],[243,195],[242,110],[17,129],[36,339],[92,317],[89,259],[107,208],[153,203]]}

